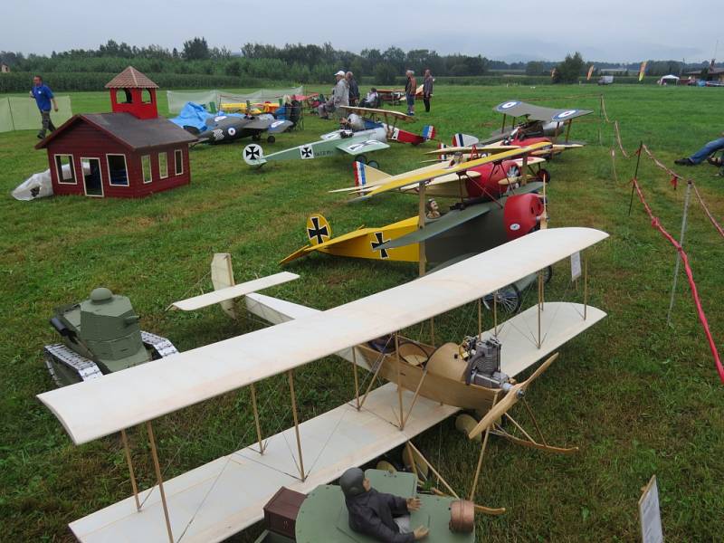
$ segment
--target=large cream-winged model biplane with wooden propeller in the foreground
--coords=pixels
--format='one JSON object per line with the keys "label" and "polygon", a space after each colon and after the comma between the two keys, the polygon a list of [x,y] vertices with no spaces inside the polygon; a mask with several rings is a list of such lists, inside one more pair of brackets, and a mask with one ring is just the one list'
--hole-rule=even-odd
{"label": "large cream-winged model biplane with wooden propeller in the foreground", "polygon": [[[471,337],[456,338],[460,343],[436,345],[433,338],[427,344],[406,339],[400,331],[471,302],[478,303],[481,315],[479,300],[486,294],[605,237],[606,233],[589,228],[532,233],[325,311],[248,294],[245,300],[252,312],[279,324],[39,395],[73,443],[125,433],[137,424],[145,424],[148,432],[157,491],[156,486],[136,490],[126,449],[134,495],[72,522],[73,533],[81,541],[219,541],[262,519],[264,503],[281,486],[309,492],[396,446],[414,447],[414,436],[461,409],[491,410],[491,417],[505,416],[518,427],[507,408],[525,401],[525,389],[556,357],[551,353],[605,317],[587,305],[587,288],[583,303],[546,300],[543,310],[540,281],[537,305],[505,322],[497,322],[493,311],[490,330],[483,331],[478,319],[477,330],[469,331]],[[212,294],[214,302],[224,298],[223,292]],[[384,338],[382,346],[376,338]],[[349,380],[354,376],[355,397],[301,422],[294,372],[332,354],[352,363]],[[522,383],[513,381],[543,357],[549,358],[532,376]],[[366,387],[359,386],[358,368],[372,374]],[[257,443],[162,480],[154,419],[250,386],[249,409],[259,429],[263,414],[257,409],[253,386],[280,374],[289,383],[293,427],[267,437],[258,430]],[[375,388],[377,377],[390,383]],[[484,433],[472,488],[466,489],[472,500],[480,498],[477,481],[491,432],[544,451],[576,451],[554,447],[542,434],[538,441],[529,433],[514,436],[499,424],[486,424],[488,419],[483,419],[470,431],[471,437]],[[127,446],[128,441],[123,443]],[[442,477],[441,484],[445,492],[455,494]],[[482,506],[478,510],[503,512]]]}

